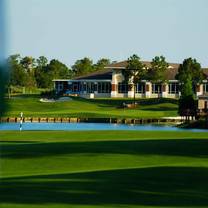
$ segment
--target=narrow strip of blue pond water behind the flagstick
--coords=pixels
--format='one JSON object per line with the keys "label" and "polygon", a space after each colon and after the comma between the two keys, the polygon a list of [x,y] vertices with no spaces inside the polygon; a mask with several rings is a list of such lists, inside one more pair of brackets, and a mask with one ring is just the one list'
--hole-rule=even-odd
{"label": "narrow strip of blue pond water behind the flagstick", "polygon": [[[0,130],[19,130],[19,123],[1,123]],[[64,130],[64,131],[86,131],[86,130],[144,130],[144,131],[192,131],[208,132],[204,129],[181,129],[166,125],[133,125],[133,124],[110,124],[110,123],[23,123],[23,131],[38,130]]]}

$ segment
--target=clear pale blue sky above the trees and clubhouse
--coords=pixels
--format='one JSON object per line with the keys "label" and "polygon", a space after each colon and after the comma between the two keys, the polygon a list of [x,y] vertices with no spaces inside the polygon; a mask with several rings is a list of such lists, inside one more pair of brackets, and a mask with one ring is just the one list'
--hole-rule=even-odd
{"label": "clear pale blue sky above the trees and clubhouse", "polygon": [[208,67],[208,0],[6,0],[7,54],[71,66],[137,54]]}

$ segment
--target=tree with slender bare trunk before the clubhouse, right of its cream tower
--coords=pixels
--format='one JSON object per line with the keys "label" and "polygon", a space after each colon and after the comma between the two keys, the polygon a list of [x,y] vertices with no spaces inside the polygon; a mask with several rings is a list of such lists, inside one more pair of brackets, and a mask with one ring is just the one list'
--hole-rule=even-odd
{"label": "tree with slender bare trunk before the clubhouse, right of its cream tower", "polygon": [[136,84],[141,81],[146,73],[145,65],[140,61],[140,57],[132,55],[128,58],[126,70],[123,71],[124,78],[134,89],[134,106],[136,105]]}

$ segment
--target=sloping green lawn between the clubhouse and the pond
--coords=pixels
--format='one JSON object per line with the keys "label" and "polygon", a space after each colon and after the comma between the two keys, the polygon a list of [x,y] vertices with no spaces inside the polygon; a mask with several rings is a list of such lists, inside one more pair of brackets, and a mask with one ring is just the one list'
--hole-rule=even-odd
{"label": "sloping green lawn between the clubhouse and the pond", "polygon": [[24,112],[26,117],[87,117],[87,118],[159,118],[177,116],[177,101],[172,99],[141,99],[136,109],[119,108],[129,99],[74,98],[72,101],[41,103],[39,96],[12,98],[8,101],[5,116],[17,117]]}

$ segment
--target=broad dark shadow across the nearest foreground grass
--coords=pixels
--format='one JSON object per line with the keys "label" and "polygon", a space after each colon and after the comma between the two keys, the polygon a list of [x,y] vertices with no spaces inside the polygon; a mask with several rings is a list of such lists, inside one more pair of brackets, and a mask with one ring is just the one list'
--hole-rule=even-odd
{"label": "broad dark shadow across the nearest foreground grass", "polygon": [[208,169],[153,167],[1,180],[1,203],[208,206]]}

